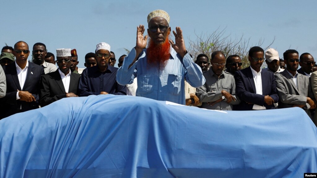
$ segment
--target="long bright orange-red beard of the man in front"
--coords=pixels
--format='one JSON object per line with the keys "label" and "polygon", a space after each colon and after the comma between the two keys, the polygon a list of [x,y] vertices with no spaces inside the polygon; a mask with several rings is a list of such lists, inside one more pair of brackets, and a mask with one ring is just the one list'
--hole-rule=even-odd
{"label": "long bright orange-red beard of the man in front", "polygon": [[146,49],[147,63],[150,67],[158,66],[163,69],[167,60],[170,59],[170,47],[169,37],[166,37],[165,41],[161,44],[155,44],[149,39],[148,47]]}

